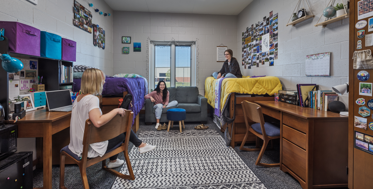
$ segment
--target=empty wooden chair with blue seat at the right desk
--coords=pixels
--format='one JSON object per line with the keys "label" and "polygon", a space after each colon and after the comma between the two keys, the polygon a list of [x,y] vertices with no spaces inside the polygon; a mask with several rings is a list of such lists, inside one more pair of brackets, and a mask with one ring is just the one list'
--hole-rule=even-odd
{"label": "empty wooden chair with blue seat at the right desk", "polygon": [[[262,160],[264,151],[266,150],[269,141],[272,139],[280,138],[280,128],[270,122],[264,122],[262,107],[260,105],[252,103],[252,102],[248,102],[246,100],[242,101],[241,105],[243,109],[243,116],[245,118],[245,123],[246,123],[246,135],[244,136],[239,149],[245,150],[245,151],[259,151],[260,150],[258,159],[255,162],[256,165],[260,165],[264,167],[280,166],[280,163],[266,164],[266,163],[260,162]],[[249,125],[247,117],[257,123]],[[257,137],[261,138],[264,141],[262,149],[258,148],[258,142],[259,142],[258,140],[256,144],[257,148],[255,149],[243,148],[247,140],[249,132],[252,132],[254,135],[256,135]]]}

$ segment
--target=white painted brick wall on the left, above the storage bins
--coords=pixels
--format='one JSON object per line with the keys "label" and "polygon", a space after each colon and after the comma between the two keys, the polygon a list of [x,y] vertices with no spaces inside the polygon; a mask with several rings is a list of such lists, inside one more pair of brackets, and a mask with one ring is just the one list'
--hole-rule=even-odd
{"label": "white painted brick wall on the left, above the storage bins", "polygon": [[92,0],[93,5],[112,16],[104,17],[89,8],[84,0],[77,0],[92,12],[92,23],[98,24],[105,30],[105,49],[93,46],[93,34],[85,32],[73,25],[72,0],[39,0],[38,5],[33,5],[25,0],[6,0],[0,9],[0,20],[18,21],[41,31],[55,33],[63,38],[77,41],[77,61],[75,65],[87,65],[99,68],[107,75],[113,73],[112,31],[113,11],[105,1]]}

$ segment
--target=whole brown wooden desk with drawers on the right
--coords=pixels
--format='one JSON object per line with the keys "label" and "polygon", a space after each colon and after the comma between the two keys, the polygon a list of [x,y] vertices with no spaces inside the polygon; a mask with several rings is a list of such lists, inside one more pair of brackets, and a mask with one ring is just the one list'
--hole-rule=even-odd
{"label": "whole brown wooden desk with drawers on the right", "polygon": [[280,170],[304,189],[347,187],[348,116],[284,102],[255,103],[280,120]]}

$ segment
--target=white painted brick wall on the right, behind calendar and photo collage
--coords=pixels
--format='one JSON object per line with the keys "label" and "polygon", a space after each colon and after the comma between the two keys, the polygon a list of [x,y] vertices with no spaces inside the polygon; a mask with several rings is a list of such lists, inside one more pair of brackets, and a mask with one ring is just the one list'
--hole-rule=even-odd
{"label": "white painted brick wall on the right, behind calendar and photo collage", "polygon": [[[333,86],[347,82],[348,77],[348,19],[329,24],[327,27],[315,27],[329,0],[308,1],[315,18],[301,25],[286,27],[298,1],[256,0],[248,5],[237,17],[237,57],[241,57],[241,32],[246,27],[263,20],[269,12],[278,13],[278,59],[273,67],[259,67],[241,72],[244,76],[267,75],[280,79],[283,88],[296,90],[298,83],[315,83],[321,90],[332,90]],[[305,7],[310,14],[308,7]],[[321,18],[321,21],[324,18]],[[332,52],[330,77],[305,76],[305,56],[321,52]],[[348,94],[339,97],[348,107]]]}

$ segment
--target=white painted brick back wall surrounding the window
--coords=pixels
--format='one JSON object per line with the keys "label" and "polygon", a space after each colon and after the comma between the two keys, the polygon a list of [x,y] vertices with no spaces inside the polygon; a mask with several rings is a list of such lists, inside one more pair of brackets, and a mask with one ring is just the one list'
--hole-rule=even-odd
{"label": "white painted brick back wall surrounding the window", "polygon": [[[222,67],[216,62],[216,46],[224,44],[237,50],[237,16],[177,13],[146,13],[115,11],[113,14],[113,74],[134,73],[145,76],[147,39],[199,42],[200,94],[205,94],[205,79]],[[132,37],[131,44],[122,44],[121,36]],[[141,52],[133,51],[133,42],[141,42]],[[130,54],[122,54],[122,47]]]}

